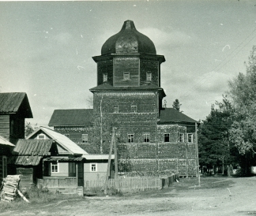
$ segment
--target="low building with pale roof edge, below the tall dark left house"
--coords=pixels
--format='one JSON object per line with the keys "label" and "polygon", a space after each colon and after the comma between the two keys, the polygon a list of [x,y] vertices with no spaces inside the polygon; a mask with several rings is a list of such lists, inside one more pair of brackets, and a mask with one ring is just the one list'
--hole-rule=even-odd
{"label": "low building with pale roof edge, below the tall dark left house", "polygon": [[7,176],[7,161],[11,156],[13,151],[13,143],[0,136],[0,185],[2,184],[2,179]]}

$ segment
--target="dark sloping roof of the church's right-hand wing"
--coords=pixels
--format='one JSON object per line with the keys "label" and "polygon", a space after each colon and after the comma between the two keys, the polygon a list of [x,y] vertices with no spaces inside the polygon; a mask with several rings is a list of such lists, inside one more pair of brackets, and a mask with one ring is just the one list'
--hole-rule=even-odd
{"label": "dark sloping roof of the church's right-hand wing", "polygon": [[175,110],[174,108],[164,108],[160,110],[160,121],[157,123],[166,123],[166,122],[188,122],[195,123],[193,118],[186,116],[185,114]]}

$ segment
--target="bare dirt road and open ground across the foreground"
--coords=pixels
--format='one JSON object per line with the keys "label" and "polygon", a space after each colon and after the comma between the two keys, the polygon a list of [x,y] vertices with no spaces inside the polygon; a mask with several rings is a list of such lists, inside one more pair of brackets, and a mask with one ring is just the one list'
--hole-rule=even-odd
{"label": "bare dirt road and open ground across the foreground", "polygon": [[201,187],[184,178],[159,191],[56,200],[0,215],[256,215],[256,177],[201,177]]}

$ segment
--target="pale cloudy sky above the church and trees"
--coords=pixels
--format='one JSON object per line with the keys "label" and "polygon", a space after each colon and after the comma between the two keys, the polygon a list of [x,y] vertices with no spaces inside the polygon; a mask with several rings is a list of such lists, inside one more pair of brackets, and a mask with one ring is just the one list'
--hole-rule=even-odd
{"label": "pale cloudy sky above the church and trees", "polygon": [[0,2],[0,92],[26,92],[32,125],[92,108],[104,42],[133,20],[164,55],[167,106],[204,120],[256,45],[256,0]]}

